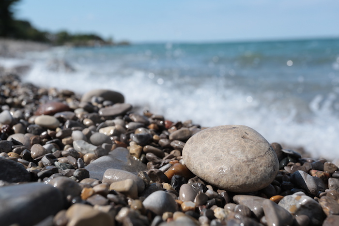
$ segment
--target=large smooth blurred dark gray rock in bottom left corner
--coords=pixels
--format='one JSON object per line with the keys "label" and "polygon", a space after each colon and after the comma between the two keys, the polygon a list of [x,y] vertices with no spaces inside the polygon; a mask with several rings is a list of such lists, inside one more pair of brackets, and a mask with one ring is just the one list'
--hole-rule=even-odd
{"label": "large smooth blurred dark gray rock in bottom left corner", "polygon": [[32,226],[64,207],[61,192],[44,183],[25,183],[0,187],[2,226]]}

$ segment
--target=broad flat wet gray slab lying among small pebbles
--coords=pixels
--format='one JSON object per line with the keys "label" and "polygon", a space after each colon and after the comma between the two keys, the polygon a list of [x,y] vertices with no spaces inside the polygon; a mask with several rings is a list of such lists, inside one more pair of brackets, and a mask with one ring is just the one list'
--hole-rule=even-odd
{"label": "broad flat wet gray slab lying among small pebbles", "polygon": [[105,171],[110,168],[125,170],[135,175],[139,171],[147,170],[145,164],[132,157],[127,149],[121,147],[110,151],[108,155],[102,156],[86,166],[86,169],[90,172],[90,178],[98,180],[102,180]]}

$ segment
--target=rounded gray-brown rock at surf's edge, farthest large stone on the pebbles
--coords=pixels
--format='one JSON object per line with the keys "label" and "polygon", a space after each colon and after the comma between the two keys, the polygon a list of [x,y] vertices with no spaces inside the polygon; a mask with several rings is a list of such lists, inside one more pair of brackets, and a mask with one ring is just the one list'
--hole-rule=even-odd
{"label": "rounded gray-brown rock at surf's edge, farthest large stone on the pebbles", "polygon": [[91,102],[93,96],[99,96],[106,101],[113,103],[123,103],[124,97],[120,92],[112,90],[91,90],[82,95],[80,102]]}

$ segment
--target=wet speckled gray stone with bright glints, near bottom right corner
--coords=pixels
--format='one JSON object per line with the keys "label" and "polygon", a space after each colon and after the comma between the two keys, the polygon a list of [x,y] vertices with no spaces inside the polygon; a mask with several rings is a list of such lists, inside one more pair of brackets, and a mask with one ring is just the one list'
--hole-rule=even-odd
{"label": "wet speckled gray stone with bright glints, near bottom right corner", "polygon": [[313,225],[320,225],[323,220],[323,210],[320,204],[303,192],[285,196],[278,205],[293,215],[307,215]]}

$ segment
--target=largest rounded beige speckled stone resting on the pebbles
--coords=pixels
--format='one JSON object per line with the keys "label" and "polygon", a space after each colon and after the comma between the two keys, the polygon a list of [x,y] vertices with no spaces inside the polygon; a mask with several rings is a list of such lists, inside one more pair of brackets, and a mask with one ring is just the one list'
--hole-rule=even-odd
{"label": "largest rounded beige speckled stone resting on the pebbles", "polygon": [[271,145],[243,125],[216,126],[198,132],[186,142],[183,159],[195,175],[232,192],[265,188],[279,170]]}

